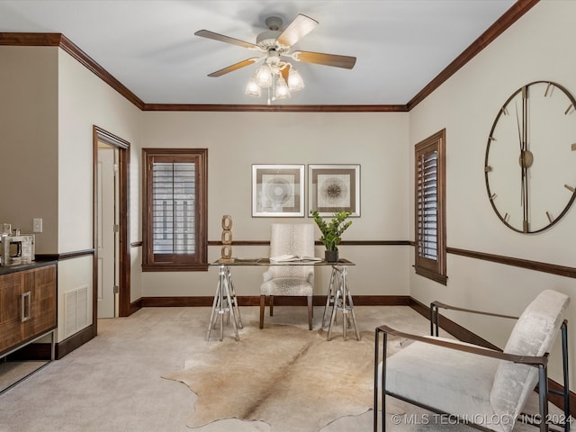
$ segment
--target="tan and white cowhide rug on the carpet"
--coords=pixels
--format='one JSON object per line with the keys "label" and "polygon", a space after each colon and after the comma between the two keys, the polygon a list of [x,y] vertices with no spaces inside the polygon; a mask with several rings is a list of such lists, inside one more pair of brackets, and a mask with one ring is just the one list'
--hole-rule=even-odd
{"label": "tan and white cowhide rug on the carpet", "polygon": [[[388,342],[389,355],[400,349]],[[325,330],[251,323],[240,340],[210,341],[164,378],[197,394],[190,428],[219,419],[261,420],[273,431],[317,431],[342,416],[358,415],[374,402],[374,332]]]}

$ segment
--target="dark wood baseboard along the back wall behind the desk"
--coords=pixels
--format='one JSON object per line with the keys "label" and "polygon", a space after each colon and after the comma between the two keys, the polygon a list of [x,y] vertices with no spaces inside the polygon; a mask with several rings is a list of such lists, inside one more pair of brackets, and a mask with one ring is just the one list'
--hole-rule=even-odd
{"label": "dark wood baseboard along the back wall behind the desk", "polygon": [[[195,307],[211,306],[212,296],[188,296],[188,297],[142,297],[143,308],[166,308],[166,307]],[[410,306],[409,295],[353,295],[352,300],[356,306]],[[314,306],[326,304],[326,295],[314,295]],[[305,297],[275,296],[275,306],[305,306]],[[259,306],[259,295],[238,296],[239,306]]]}

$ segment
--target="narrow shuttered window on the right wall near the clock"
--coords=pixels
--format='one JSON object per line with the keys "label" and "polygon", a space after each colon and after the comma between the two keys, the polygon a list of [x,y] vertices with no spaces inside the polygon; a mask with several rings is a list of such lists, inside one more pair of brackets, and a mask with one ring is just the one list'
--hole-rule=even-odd
{"label": "narrow shuttered window on the right wall near the clock", "polygon": [[415,148],[415,268],[446,284],[446,130]]}

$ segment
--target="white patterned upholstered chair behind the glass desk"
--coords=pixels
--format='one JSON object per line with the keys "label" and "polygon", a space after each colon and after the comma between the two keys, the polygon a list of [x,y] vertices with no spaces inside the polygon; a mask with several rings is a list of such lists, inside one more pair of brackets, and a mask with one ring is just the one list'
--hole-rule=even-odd
{"label": "white patterned upholstered chair behind the glass desk", "polygon": [[[270,233],[270,257],[295,255],[314,257],[314,225],[311,223],[273,223]],[[312,292],[314,266],[269,266],[260,286],[260,329],[264,327],[266,297],[270,316],[274,314],[275,295],[303,296],[308,300],[308,327],[312,329]]]}

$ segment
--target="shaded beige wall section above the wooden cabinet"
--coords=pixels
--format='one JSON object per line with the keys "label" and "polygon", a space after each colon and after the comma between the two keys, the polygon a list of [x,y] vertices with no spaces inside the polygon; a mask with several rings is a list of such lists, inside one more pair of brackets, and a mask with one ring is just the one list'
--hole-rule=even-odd
{"label": "shaded beige wall section above the wooden cabinet", "polygon": [[58,48],[0,47],[0,223],[58,246]]}

